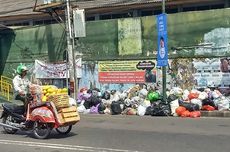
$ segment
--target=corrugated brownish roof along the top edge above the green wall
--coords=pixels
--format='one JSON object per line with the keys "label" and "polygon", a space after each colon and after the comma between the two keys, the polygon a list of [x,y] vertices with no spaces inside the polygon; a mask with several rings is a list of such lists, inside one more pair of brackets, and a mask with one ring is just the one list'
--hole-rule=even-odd
{"label": "corrugated brownish roof along the top edge above the green wall", "polygon": [[[41,12],[34,12],[33,7],[36,0],[0,0],[0,22],[22,18],[33,17]],[[56,0],[57,1],[57,0]],[[65,1],[65,0],[59,0]],[[140,9],[161,7],[162,0],[70,0],[73,7],[85,9],[86,13],[107,13],[124,9]],[[165,0],[167,5],[184,5],[184,4],[206,4],[208,2],[221,2],[224,0]],[[38,4],[43,4],[43,0],[37,0]],[[45,15],[45,14],[43,14]],[[3,20],[4,19],[4,20]]]}

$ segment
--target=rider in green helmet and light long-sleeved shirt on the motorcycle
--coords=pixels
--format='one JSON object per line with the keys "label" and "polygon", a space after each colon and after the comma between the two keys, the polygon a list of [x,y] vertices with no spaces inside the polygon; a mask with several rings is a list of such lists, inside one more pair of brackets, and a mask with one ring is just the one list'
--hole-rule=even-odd
{"label": "rider in green helmet and light long-sleeved shirt on the motorcycle", "polygon": [[13,79],[14,96],[16,100],[23,101],[25,105],[25,95],[28,93],[29,85],[31,84],[31,82],[26,78],[28,69],[25,65],[20,64],[16,71],[17,75]]}

